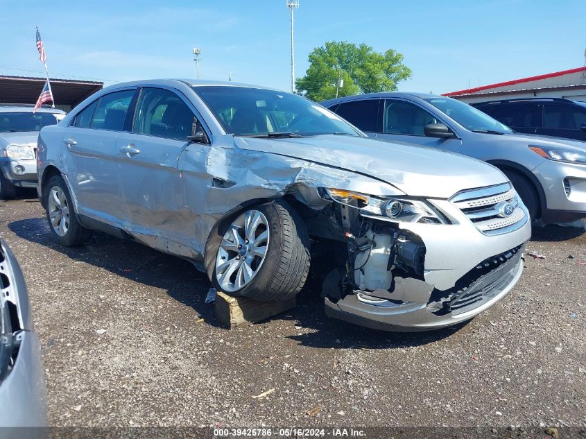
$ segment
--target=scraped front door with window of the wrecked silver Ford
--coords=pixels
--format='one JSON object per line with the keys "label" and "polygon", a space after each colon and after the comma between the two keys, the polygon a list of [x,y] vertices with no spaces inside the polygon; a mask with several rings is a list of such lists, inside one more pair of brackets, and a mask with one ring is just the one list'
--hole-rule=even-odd
{"label": "scraped front door with window of the wrecked silver Ford", "polygon": [[[192,184],[187,189],[188,175],[178,170],[178,160],[188,147],[207,156],[209,146],[190,144],[187,138],[198,120],[191,103],[173,89],[141,89],[132,132],[123,133],[117,144],[126,230],[191,246],[190,239],[197,236],[196,222],[188,219],[191,212],[185,200],[196,197],[205,203],[200,191],[212,182],[211,178],[203,181],[203,176],[194,182],[189,175]],[[205,160],[201,166],[205,172]],[[151,241],[150,245],[166,250],[169,243]]]}

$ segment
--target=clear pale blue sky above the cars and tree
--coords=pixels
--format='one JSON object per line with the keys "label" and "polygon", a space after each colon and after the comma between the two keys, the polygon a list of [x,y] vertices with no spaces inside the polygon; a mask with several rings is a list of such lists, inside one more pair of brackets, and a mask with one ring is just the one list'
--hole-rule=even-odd
{"label": "clear pale blue sky above the cars and tree", "polygon": [[[290,87],[285,0],[0,0],[0,74],[41,76],[35,26],[51,76],[104,80],[195,76]],[[435,93],[584,64],[585,0],[300,0],[296,75],[329,40],[403,53],[404,91]]]}

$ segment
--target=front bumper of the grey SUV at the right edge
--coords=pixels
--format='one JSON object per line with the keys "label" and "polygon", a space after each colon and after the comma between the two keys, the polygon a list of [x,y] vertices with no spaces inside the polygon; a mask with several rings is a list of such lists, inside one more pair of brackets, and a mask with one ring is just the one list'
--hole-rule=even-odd
{"label": "front bumper of the grey SUV at the right edge", "polygon": [[545,160],[533,173],[545,194],[542,206],[545,223],[586,218],[586,165]]}

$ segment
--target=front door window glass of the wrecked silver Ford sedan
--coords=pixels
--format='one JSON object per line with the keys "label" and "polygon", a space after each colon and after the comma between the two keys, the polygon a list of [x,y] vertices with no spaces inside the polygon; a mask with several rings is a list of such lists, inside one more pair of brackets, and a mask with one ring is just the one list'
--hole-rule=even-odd
{"label": "front door window glass of the wrecked silver Ford sedan", "polygon": [[187,140],[196,117],[182,99],[166,89],[142,89],[132,132]]}

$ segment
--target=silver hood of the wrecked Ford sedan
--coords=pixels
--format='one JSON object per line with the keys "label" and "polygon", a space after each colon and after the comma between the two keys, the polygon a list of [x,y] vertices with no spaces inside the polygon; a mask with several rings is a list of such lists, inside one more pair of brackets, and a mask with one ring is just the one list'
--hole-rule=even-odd
{"label": "silver hood of the wrecked Ford sedan", "polygon": [[384,180],[410,196],[450,198],[463,189],[508,181],[501,171],[480,160],[365,137],[234,137],[234,144],[243,149],[297,157],[363,173]]}

